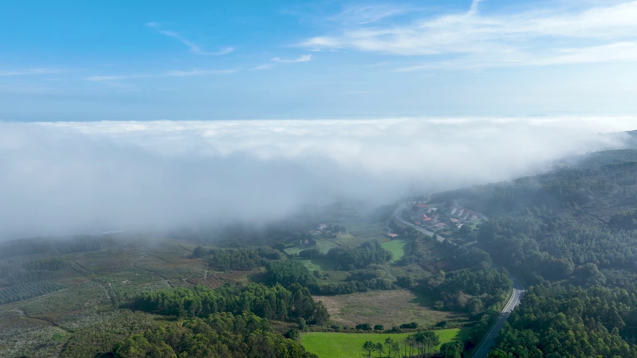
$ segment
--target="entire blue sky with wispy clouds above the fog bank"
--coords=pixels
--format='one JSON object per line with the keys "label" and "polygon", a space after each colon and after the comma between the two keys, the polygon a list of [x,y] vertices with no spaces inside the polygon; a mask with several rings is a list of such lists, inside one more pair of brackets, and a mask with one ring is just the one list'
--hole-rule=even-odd
{"label": "entire blue sky with wispy clouds above the fog bank", "polygon": [[0,120],[637,113],[637,1],[11,1]]}

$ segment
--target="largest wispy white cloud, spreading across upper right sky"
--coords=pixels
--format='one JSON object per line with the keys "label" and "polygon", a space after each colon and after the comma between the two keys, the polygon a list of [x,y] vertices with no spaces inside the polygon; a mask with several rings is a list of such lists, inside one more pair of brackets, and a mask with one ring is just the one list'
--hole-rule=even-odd
{"label": "largest wispy white cloud, spreading across upper right sky", "polygon": [[407,24],[345,25],[337,34],[299,45],[426,57],[427,62],[404,69],[637,62],[637,1],[595,3],[577,11],[550,3],[552,8],[496,14],[480,11],[483,1],[474,0],[468,11]]}

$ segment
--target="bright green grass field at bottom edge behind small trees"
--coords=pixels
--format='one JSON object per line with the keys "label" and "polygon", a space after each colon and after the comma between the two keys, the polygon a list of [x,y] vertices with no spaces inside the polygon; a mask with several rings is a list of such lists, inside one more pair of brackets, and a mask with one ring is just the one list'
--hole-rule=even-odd
{"label": "bright green grass field at bottom edge behind small trees", "polygon": [[[453,340],[465,340],[470,331],[468,328],[455,328],[441,329],[435,332],[440,336],[440,344],[442,344]],[[308,352],[318,355],[319,358],[360,358],[363,353],[361,347],[365,341],[383,343],[385,338],[391,337],[396,341],[402,342],[409,334],[312,332],[303,334],[302,338],[303,347]],[[373,356],[376,357],[377,355]]]}

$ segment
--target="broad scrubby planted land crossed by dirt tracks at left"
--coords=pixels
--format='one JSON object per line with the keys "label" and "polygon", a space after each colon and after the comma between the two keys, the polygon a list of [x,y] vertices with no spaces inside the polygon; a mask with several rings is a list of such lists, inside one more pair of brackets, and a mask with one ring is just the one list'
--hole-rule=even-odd
{"label": "broad scrubby planted land crossed by dirt tracks at left", "polygon": [[[65,266],[48,272],[45,280],[5,289],[3,297],[20,299],[0,304],[0,357],[99,356],[155,321],[147,313],[118,309],[129,297],[199,281],[247,280],[247,272],[209,273],[204,262],[187,258],[193,248],[118,237],[102,240],[97,250],[58,254]],[[20,268],[50,257],[47,252],[15,255],[0,259],[0,265]],[[6,297],[4,302],[10,301]]]}

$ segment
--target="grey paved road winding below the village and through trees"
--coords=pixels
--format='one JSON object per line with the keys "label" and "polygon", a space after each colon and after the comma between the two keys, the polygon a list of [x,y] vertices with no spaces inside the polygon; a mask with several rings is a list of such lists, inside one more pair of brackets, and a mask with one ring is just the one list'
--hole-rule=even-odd
{"label": "grey paved road winding below the village and through trees", "polygon": [[[414,229],[420,231],[421,233],[424,233],[426,235],[433,237],[434,233],[432,233],[431,231],[425,230],[419,226],[415,226],[414,224],[404,220],[401,217],[401,213],[403,212],[403,210],[407,208],[407,206],[408,204],[406,203],[400,204],[398,208],[396,209],[396,211],[394,211],[394,217],[396,218],[396,220],[398,220],[399,222],[402,222],[406,226],[413,227]],[[442,241],[445,241],[445,238],[438,235],[437,240],[442,242]],[[457,245],[457,244],[454,243],[454,245]],[[509,276],[511,280],[513,281],[513,291],[512,291],[511,297],[509,301],[506,303],[506,306],[500,313],[499,317],[497,317],[496,322],[489,329],[489,332],[487,333],[487,335],[484,336],[484,338],[482,338],[482,341],[480,342],[478,347],[476,347],[476,349],[474,350],[473,358],[487,357],[487,354],[489,354],[491,347],[493,347],[494,345],[494,340],[496,339],[498,331],[500,330],[502,325],[505,324],[505,321],[506,319],[508,319],[509,315],[511,314],[511,311],[513,311],[513,308],[515,308],[515,306],[520,304],[520,300],[522,299],[522,296],[524,296],[524,286],[522,285],[522,282],[520,282],[517,278],[515,278],[515,276],[511,274],[509,274]]]}

